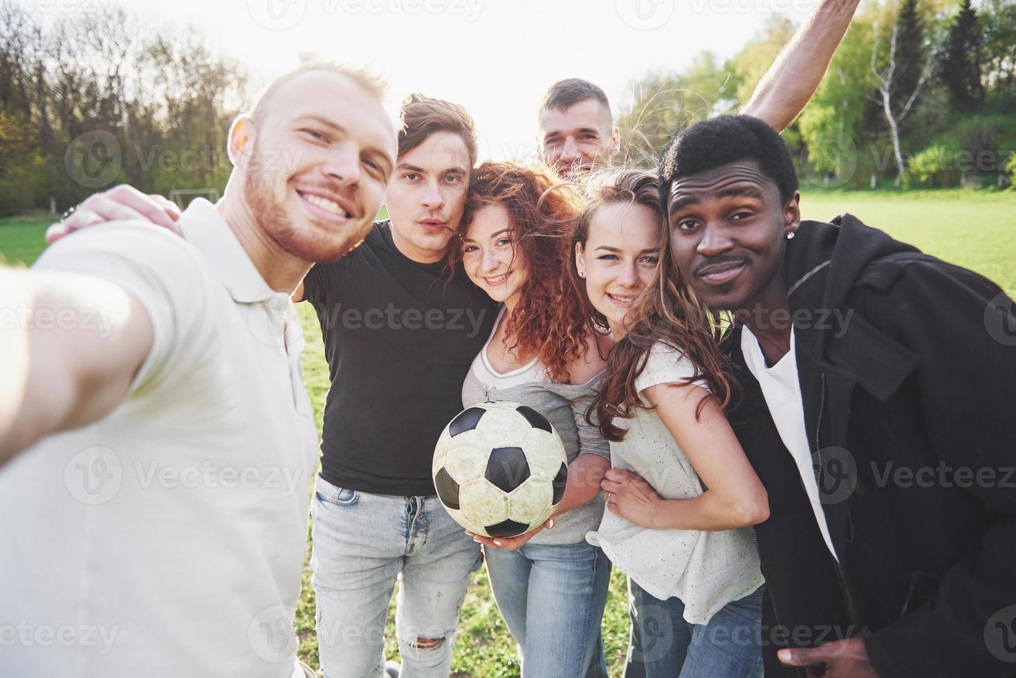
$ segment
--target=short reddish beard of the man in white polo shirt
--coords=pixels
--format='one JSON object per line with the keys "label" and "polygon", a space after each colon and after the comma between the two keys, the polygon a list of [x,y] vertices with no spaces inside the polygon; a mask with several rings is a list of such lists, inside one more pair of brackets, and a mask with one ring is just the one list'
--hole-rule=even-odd
{"label": "short reddish beard of the man in white polo shirt", "polygon": [[[259,157],[257,146],[254,157]],[[371,226],[370,221],[364,224],[350,222],[340,229],[329,229],[314,223],[298,225],[276,199],[271,182],[257,164],[247,172],[244,200],[262,233],[284,252],[313,263],[331,263],[341,259],[364,241]]]}

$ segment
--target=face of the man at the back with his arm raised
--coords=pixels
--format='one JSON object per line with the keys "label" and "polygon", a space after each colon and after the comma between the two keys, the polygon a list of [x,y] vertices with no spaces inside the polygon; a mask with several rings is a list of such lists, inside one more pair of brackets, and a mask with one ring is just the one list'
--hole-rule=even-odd
{"label": "face of the man at the back with his arm raised", "polygon": [[611,112],[595,99],[539,114],[539,156],[565,177],[610,165],[619,139]]}

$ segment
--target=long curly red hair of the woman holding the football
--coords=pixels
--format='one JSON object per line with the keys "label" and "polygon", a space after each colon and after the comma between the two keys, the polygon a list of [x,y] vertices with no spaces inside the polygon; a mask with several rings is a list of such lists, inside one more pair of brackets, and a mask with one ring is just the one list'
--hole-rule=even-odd
{"label": "long curly red hair of the woman holding the football", "polygon": [[[586,316],[575,297],[568,270],[568,235],[580,203],[574,190],[543,166],[483,163],[469,180],[459,236],[473,214],[489,204],[508,210],[514,256],[525,265],[526,281],[518,304],[507,318],[509,348],[535,355],[559,383],[568,382],[568,366],[585,355]],[[461,262],[453,247],[449,265]]]}

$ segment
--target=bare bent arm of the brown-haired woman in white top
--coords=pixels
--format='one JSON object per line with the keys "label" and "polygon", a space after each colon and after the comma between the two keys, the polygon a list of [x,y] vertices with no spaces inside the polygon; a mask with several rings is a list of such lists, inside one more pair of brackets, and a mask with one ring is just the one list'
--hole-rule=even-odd
{"label": "bare bent arm of the brown-haired woman in white top", "polygon": [[[661,383],[642,391],[707,488],[692,499],[662,499],[638,475],[607,473],[607,507],[653,530],[720,531],[762,522],[769,502],[723,411],[712,399],[695,413],[705,391],[694,384]],[[665,473],[660,469],[660,473]],[[650,479],[652,480],[652,479]]]}

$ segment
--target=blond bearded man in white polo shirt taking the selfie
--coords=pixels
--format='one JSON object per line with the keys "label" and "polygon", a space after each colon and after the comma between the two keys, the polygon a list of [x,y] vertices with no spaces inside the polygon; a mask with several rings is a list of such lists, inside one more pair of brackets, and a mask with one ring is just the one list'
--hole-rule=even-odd
{"label": "blond bearded man in white polo shirt taking the selfie", "polygon": [[341,68],[282,76],[183,239],[114,221],[0,269],[0,675],[304,675],[317,436],[289,298],[377,213],[379,97]]}

